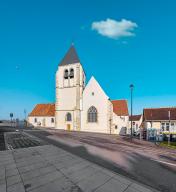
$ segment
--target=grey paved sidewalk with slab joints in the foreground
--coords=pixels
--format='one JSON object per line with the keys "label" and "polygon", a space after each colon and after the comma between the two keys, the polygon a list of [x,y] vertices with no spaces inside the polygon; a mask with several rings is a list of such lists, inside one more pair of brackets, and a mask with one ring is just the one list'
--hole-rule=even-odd
{"label": "grey paved sidewalk with slab joints in the foreground", "polygon": [[0,192],[152,192],[53,145],[0,152]]}

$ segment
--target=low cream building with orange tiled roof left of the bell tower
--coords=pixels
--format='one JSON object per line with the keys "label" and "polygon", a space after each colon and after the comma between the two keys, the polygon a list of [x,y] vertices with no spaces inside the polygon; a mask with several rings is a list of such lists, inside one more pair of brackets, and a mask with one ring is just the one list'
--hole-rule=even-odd
{"label": "low cream building with orange tiled roof left of the bell tower", "polygon": [[34,127],[55,127],[55,104],[37,104],[28,116]]}

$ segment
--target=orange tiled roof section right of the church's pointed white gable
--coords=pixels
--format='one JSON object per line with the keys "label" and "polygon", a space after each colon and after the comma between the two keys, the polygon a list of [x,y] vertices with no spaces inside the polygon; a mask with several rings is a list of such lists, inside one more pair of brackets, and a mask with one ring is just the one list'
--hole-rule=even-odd
{"label": "orange tiled roof section right of the church's pointed white gable", "polygon": [[128,116],[128,104],[126,100],[112,100],[113,112],[118,116]]}

